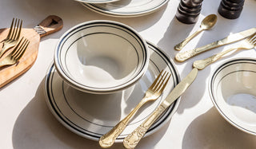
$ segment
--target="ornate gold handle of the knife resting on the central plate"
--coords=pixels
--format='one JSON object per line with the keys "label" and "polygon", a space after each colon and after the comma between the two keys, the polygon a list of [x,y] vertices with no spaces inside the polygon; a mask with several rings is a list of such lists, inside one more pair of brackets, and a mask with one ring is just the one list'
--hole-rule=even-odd
{"label": "ornate gold handle of the knife resting on the central plate", "polygon": [[154,110],[154,112],[139,126],[137,127],[130,135],[126,136],[123,140],[124,147],[131,149],[137,146],[138,142],[146,134],[146,131],[150,128],[154,121],[165,111],[166,107],[162,104]]}

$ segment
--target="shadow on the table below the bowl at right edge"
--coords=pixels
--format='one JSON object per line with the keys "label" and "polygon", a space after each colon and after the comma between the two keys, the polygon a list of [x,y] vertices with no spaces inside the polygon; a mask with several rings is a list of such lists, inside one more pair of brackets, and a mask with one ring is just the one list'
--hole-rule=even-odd
{"label": "shadow on the table below the bowl at right edge", "polygon": [[254,135],[229,124],[214,107],[192,121],[182,140],[182,149],[255,147]]}

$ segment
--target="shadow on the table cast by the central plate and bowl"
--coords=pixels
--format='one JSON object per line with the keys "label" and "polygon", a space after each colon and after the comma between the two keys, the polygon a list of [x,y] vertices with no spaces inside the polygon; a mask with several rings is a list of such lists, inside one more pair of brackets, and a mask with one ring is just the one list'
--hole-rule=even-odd
{"label": "shadow on the table cast by the central plate and bowl", "polygon": [[[142,143],[139,146],[147,148],[154,146],[162,138],[168,126],[169,123],[153,135],[142,139]],[[14,124],[12,141],[14,149],[101,148],[97,141],[85,139],[74,134],[55,119],[45,101],[44,80],[38,86],[34,98],[30,100],[30,103],[26,105],[18,116]],[[111,148],[120,149],[124,147],[122,147],[122,143],[115,143]]]}

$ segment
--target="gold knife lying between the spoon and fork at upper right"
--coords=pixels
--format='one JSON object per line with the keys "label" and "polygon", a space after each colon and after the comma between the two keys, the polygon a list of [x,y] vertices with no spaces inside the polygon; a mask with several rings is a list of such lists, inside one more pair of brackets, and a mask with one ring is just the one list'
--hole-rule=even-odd
{"label": "gold knife lying between the spoon and fork at upper right", "polygon": [[206,52],[209,49],[214,49],[222,45],[230,44],[234,41],[240,41],[246,37],[249,37],[250,35],[256,33],[256,28],[247,29],[245,31],[234,33],[229,35],[228,37],[223,38],[220,41],[214,41],[208,45],[204,45],[202,47],[199,47],[197,49],[190,49],[182,53],[177,53],[175,56],[176,61],[186,61],[187,59],[194,57],[198,55],[199,53]]}

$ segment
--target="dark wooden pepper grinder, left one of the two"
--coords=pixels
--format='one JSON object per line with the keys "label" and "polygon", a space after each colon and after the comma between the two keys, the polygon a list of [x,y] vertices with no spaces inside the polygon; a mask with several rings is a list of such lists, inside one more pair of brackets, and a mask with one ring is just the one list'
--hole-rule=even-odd
{"label": "dark wooden pepper grinder, left one of the two", "polygon": [[202,0],[181,0],[176,18],[179,22],[193,24],[198,21],[202,9]]}

